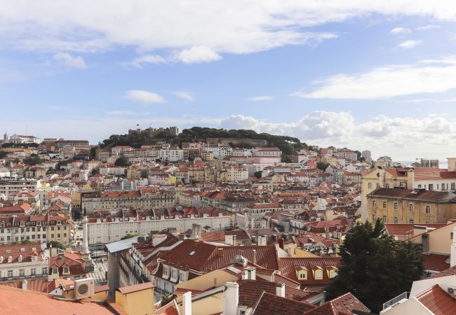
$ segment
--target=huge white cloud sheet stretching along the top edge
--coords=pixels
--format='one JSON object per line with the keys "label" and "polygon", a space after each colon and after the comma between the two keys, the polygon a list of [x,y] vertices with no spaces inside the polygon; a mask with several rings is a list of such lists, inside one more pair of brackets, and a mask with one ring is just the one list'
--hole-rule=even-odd
{"label": "huge white cloud sheet stretching along the top edge", "polygon": [[456,20],[456,6],[445,0],[3,1],[0,45],[52,52],[205,46],[217,54],[247,53],[331,38],[307,27],[370,15]]}

